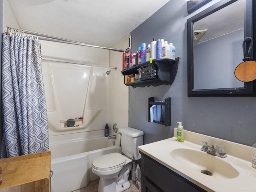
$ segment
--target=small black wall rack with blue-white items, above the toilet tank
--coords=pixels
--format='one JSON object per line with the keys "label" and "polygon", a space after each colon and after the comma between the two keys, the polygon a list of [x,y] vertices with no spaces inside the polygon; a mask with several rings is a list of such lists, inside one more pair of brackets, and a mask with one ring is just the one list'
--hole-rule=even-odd
{"label": "small black wall rack with blue-white items, above the toilet tank", "polygon": [[171,126],[171,102],[172,102],[172,100],[171,100],[170,97],[166,98],[164,100],[164,102],[155,102],[154,97],[148,98],[148,122],[151,122],[150,107],[152,107],[152,105],[156,105],[156,108],[157,108],[157,106],[160,105],[160,106],[164,106],[164,112],[163,112],[163,110],[161,110],[162,111],[162,117],[164,117],[164,121],[162,120],[163,118],[161,118],[161,121],[153,121],[153,122],[158,123],[158,124],[162,124],[164,126]]}

